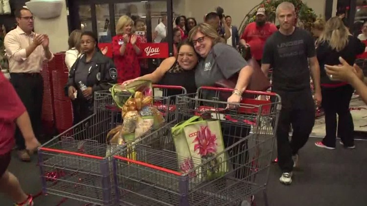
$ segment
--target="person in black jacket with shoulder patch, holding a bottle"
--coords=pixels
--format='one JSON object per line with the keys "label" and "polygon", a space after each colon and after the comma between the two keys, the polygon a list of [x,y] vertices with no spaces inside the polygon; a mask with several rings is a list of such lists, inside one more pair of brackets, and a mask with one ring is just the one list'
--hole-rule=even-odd
{"label": "person in black jacket with shoulder patch, holding a bottle", "polygon": [[92,32],[82,33],[80,45],[83,54],[70,69],[65,91],[73,104],[74,125],[93,114],[94,92],[108,90],[117,78],[114,62],[99,51]]}

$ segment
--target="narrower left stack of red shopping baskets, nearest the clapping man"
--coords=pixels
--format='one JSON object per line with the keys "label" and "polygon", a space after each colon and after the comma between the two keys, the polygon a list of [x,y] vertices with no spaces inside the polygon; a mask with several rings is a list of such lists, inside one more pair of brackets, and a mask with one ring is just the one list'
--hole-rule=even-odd
{"label": "narrower left stack of red shopping baskets, nearest the clapping man", "polygon": [[44,96],[42,103],[42,123],[46,134],[51,134],[55,123],[54,107],[52,98],[51,70],[54,68],[54,61],[43,63],[41,76],[44,81]]}

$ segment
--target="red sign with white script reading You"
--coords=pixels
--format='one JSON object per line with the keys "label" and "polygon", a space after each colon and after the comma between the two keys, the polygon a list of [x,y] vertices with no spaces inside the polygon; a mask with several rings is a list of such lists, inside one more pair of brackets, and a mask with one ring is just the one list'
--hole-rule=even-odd
{"label": "red sign with white script reading You", "polygon": [[156,59],[168,58],[168,43],[141,43],[141,58],[142,59]]}

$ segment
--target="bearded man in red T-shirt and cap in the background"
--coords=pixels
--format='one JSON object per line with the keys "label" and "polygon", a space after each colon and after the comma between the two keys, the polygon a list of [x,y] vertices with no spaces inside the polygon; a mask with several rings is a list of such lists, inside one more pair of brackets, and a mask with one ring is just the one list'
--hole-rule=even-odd
{"label": "bearded man in red T-shirt and cap in the background", "polygon": [[265,42],[277,30],[273,23],[267,21],[265,8],[259,8],[256,13],[256,21],[246,26],[240,44],[245,48],[250,47],[252,57],[261,65]]}

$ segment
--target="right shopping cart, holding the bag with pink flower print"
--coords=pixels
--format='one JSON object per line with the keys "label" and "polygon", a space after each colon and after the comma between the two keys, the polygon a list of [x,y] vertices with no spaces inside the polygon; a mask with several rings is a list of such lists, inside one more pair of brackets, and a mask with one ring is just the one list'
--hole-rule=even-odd
{"label": "right shopping cart, holding the bag with pink flower print", "polygon": [[[211,90],[212,99],[202,99]],[[270,92],[246,93],[271,96],[271,101],[244,99],[235,109],[220,102],[231,89],[202,87],[196,94],[177,98],[180,120],[193,115],[221,121],[225,150],[207,159],[187,160],[183,172],[173,144],[171,127],[164,125],[128,149],[114,156],[115,198],[120,206],[239,206],[258,191],[264,191],[269,177],[275,142],[280,97]],[[249,130],[252,130],[250,132]],[[134,154],[134,155],[132,155]],[[132,158],[133,156],[133,158]],[[225,157],[219,161],[219,157]],[[193,167],[195,162],[201,163]],[[229,165],[222,167],[221,165]],[[182,168],[182,167],[181,167]],[[191,169],[190,169],[191,168]],[[208,179],[210,168],[221,176]],[[186,168],[187,169],[187,168]]]}

